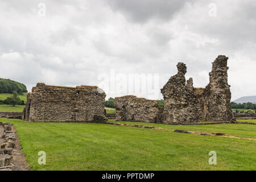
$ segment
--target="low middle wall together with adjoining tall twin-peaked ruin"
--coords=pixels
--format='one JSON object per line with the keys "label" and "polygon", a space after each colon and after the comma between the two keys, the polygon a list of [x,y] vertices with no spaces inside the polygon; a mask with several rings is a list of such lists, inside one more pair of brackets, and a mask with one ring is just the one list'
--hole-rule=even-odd
{"label": "low middle wall together with adjoining tall twin-peaked ruin", "polygon": [[193,79],[185,80],[187,67],[178,63],[178,72],[161,89],[164,109],[151,100],[135,96],[116,97],[116,121],[142,121],[152,123],[198,123],[236,121],[230,105],[231,92],[228,85],[228,57],[218,56],[212,63],[209,84],[194,88]]}

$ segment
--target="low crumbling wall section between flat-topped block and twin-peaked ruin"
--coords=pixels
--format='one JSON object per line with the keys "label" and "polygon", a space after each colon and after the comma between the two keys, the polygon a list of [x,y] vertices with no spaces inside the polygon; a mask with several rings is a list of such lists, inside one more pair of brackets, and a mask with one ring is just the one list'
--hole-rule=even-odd
{"label": "low crumbling wall section between flat-topped block and twin-peaked ruin", "polygon": [[115,121],[141,121],[156,123],[159,118],[158,103],[136,96],[115,97]]}

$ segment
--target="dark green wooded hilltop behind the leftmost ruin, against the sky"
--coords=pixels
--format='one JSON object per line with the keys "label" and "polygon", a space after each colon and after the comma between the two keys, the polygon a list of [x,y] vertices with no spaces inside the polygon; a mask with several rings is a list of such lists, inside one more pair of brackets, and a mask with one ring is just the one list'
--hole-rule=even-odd
{"label": "dark green wooded hilltop behind the leftmost ruin, against the sky", "polygon": [[23,92],[27,92],[27,87],[17,81],[0,78],[0,93],[13,93],[13,91],[22,94]]}

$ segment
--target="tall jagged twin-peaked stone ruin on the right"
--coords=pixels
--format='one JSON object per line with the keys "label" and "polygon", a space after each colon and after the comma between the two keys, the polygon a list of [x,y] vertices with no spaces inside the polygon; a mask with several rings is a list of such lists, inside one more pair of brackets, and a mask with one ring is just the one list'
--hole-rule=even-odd
{"label": "tall jagged twin-peaked stone ruin on the right", "polygon": [[230,105],[228,85],[228,57],[218,56],[212,63],[210,82],[205,88],[193,88],[189,78],[185,85],[187,67],[178,63],[178,73],[172,76],[161,92],[164,96],[164,123],[235,121]]}

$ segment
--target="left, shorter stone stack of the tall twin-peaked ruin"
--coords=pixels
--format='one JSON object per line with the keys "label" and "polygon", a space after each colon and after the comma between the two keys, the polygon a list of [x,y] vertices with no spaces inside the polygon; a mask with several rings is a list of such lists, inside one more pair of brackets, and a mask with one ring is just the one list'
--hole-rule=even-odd
{"label": "left, shorter stone stack of the tall twin-peaked ruin", "polygon": [[178,73],[172,76],[161,92],[164,97],[164,123],[199,122],[198,101],[193,90],[193,80],[186,85],[184,63],[177,64]]}

